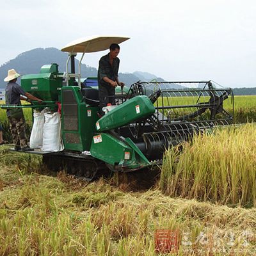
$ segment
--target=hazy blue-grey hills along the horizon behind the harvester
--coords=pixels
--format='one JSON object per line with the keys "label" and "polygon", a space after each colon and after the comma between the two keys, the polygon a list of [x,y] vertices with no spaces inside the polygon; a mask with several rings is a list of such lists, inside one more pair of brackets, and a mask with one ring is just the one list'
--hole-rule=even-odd
{"label": "hazy blue-grey hills along the horizon behind the harvester", "polygon": [[[0,88],[5,88],[6,83],[3,81],[7,76],[7,72],[11,68],[19,74],[38,74],[42,65],[58,63],[59,71],[64,72],[66,70],[68,54],[61,52],[56,48],[36,48],[31,51],[22,52],[15,59],[10,60],[0,67]],[[78,67],[78,60],[76,60],[76,67]],[[96,77],[97,68],[90,67],[88,65],[81,65],[82,77]],[[148,72],[135,71],[133,73],[119,73],[120,81],[124,81],[127,86],[130,86],[136,81],[164,81],[163,78],[157,77],[154,74]],[[173,88],[183,88],[179,84],[172,84]],[[234,88],[234,95],[256,95],[256,88]]]}

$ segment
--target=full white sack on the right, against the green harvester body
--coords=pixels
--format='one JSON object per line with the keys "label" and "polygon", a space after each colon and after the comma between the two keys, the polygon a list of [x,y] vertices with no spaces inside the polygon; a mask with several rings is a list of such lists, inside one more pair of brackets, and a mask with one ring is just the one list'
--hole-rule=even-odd
{"label": "full white sack on the right, against the green harvester body", "polygon": [[43,151],[60,151],[61,147],[61,119],[58,112],[45,113]]}

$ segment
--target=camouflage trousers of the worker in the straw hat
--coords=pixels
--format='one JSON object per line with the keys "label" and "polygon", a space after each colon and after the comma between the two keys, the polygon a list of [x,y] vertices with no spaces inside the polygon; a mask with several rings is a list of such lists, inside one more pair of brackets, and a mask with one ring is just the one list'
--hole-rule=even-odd
{"label": "camouflage trousers of the worker in the straw hat", "polygon": [[12,133],[12,140],[15,147],[24,148],[28,146],[28,139],[25,132],[26,121],[24,117],[13,118],[8,117],[10,129]]}

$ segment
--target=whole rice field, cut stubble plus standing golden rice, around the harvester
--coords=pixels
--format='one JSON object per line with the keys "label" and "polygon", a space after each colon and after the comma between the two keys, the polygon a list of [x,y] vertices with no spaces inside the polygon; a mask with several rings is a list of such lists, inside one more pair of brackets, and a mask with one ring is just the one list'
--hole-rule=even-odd
{"label": "whole rice field, cut stubble plus standing golden rice, around the harvester", "polygon": [[[236,122],[255,120],[255,106],[255,96],[235,97]],[[29,126],[31,111],[24,113]],[[216,130],[170,148],[159,175],[90,183],[2,146],[0,255],[166,255],[156,250],[158,230],[177,234],[179,250],[168,255],[256,255],[255,128]],[[152,177],[154,185],[141,186]]]}

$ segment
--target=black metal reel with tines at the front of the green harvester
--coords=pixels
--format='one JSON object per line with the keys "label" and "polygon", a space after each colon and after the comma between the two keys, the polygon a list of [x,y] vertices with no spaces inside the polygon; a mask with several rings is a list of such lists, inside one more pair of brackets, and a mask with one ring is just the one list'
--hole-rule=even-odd
{"label": "black metal reel with tines at the front of the green harvester", "polygon": [[[127,125],[132,140],[150,161],[160,159],[166,148],[191,140],[195,134],[233,123],[232,115],[223,108],[228,96],[233,99],[232,90],[218,88],[213,83],[138,81],[132,84],[133,96],[147,95],[156,108],[154,114]],[[122,130],[125,127],[120,128],[121,136]]]}

